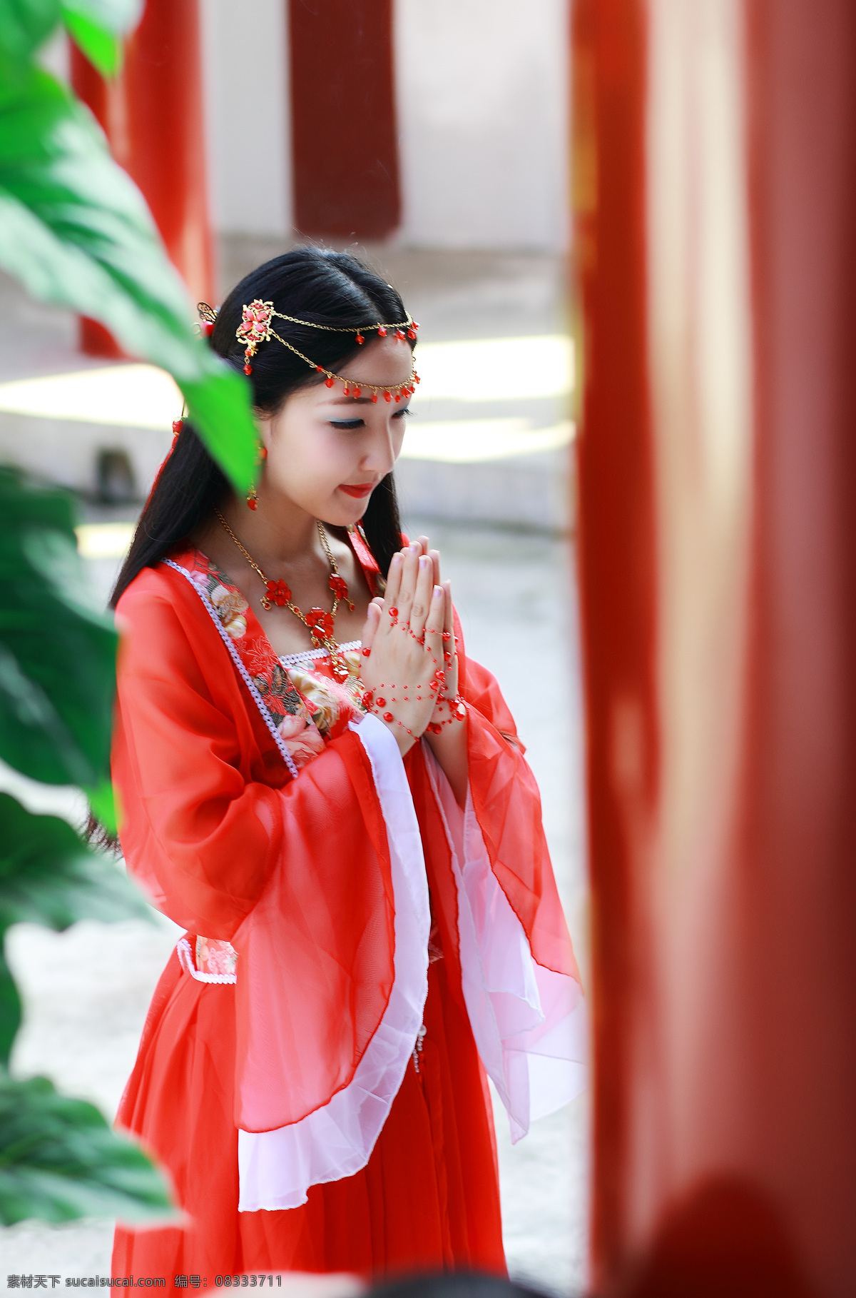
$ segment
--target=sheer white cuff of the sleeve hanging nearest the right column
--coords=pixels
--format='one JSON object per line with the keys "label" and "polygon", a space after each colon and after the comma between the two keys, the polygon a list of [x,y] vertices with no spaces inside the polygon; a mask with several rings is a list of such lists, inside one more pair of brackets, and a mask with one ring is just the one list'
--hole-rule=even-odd
{"label": "sheer white cuff of the sleeve hanging nearest the right column", "polygon": [[538,964],[490,868],[467,790],[455,802],[433,753],[425,765],[458,890],[458,944],[467,1015],[481,1062],[508,1114],[511,1140],[588,1084],[588,1022],[580,984]]}

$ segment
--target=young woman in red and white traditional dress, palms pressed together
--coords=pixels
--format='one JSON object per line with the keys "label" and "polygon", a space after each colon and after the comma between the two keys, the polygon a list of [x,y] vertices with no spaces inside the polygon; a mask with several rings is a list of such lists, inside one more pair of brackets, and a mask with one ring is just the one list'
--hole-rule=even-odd
{"label": "young woman in red and white traditional dress, palms pressed together", "polygon": [[398,524],[416,328],[342,253],[248,275],[210,337],[257,489],[184,424],[119,576],[122,848],[187,929],[119,1123],[185,1224],[115,1275],[503,1272],[486,1073],[515,1137],[580,1089],[538,793]]}

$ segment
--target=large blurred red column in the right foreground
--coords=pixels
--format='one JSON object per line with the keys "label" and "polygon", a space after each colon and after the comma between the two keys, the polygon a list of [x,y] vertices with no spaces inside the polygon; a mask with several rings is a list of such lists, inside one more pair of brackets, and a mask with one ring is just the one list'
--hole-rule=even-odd
{"label": "large blurred red column in the right foreground", "polygon": [[856,1277],[856,9],[577,0],[594,1286]]}

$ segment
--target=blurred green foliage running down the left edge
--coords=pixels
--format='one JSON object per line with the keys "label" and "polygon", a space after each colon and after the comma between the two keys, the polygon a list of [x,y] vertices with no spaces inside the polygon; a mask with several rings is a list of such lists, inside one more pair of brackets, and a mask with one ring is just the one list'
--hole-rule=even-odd
{"label": "blurred green foliage running down the left edge", "polygon": [[[169,370],[245,491],[256,472],[249,388],[200,339],[145,201],[92,114],[36,60],[65,27],[114,75],[139,13],[140,0],[0,0],[0,266]],[[0,469],[0,758],[32,780],[80,787],[110,829],[115,652],[112,619],[89,602],[69,498]],[[121,868],[70,824],[0,794],[0,1223],[174,1214],[162,1175],[96,1108],[8,1071],[21,1023],[9,927],[148,915]]]}

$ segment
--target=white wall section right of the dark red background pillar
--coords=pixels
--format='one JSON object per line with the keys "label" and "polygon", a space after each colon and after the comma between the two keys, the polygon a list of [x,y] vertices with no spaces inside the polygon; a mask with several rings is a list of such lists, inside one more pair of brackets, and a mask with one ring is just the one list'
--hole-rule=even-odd
{"label": "white wall section right of the dark red background pillar", "polygon": [[567,0],[396,0],[402,238],[562,249]]}

